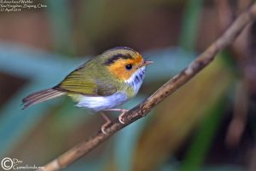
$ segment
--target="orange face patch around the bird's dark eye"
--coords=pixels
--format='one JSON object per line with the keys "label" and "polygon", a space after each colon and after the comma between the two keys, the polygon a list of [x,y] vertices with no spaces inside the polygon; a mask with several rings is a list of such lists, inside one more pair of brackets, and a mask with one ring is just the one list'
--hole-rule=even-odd
{"label": "orange face patch around the bird's dark eye", "polygon": [[[131,75],[137,71],[143,62],[143,57],[141,54],[137,55],[132,59],[122,59],[116,60],[112,65],[107,66],[110,73],[114,76],[119,77],[121,80],[127,80]],[[131,65],[130,67],[127,67]],[[128,69],[127,69],[128,68]]]}

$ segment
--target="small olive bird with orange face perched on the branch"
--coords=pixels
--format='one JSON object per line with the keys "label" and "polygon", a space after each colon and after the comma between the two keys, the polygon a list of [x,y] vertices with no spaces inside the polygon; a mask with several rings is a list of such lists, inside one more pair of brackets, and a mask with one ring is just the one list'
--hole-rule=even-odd
{"label": "small olive bird with orange face perched on the branch", "polygon": [[[115,109],[134,97],[143,83],[145,67],[153,63],[128,47],[111,48],[79,66],[53,88],[26,96],[23,109],[61,95],[70,96],[77,106],[97,111],[119,111],[119,122],[127,110]],[[110,123],[102,125],[102,132]]]}

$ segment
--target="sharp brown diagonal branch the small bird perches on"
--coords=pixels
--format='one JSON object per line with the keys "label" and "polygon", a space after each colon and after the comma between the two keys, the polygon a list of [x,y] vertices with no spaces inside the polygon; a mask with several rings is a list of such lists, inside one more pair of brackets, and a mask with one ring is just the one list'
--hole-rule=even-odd
{"label": "sharp brown diagonal branch the small bird perches on", "polygon": [[194,60],[187,68],[181,71],[177,76],[172,77],[167,83],[161,86],[154,94],[144,100],[141,104],[135,106],[124,116],[125,124],[119,123],[116,119],[106,128],[107,134],[103,134],[102,131],[98,131],[95,135],[91,136],[88,140],[84,140],[79,145],[74,146],[71,150],[65,152],[60,157],[57,157],[54,161],[49,162],[41,170],[54,171],[61,168],[66,168],[69,164],[83,157],[104,140],[107,140],[110,136],[115,134],[119,129],[125,128],[127,125],[135,122],[141,117],[145,117],[148,112],[158,105],[167,96],[175,92],[178,88],[187,83],[192,77],[194,77],[199,71],[207,66],[218,52],[228,45],[233,43],[242,29],[247,26],[249,22],[254,20],[256,16],[256,3],[248,9],[245,13],[241,14],[233,24],[224,32],[224,34],[217,39],[212,45],[207,48],[196,60]]}

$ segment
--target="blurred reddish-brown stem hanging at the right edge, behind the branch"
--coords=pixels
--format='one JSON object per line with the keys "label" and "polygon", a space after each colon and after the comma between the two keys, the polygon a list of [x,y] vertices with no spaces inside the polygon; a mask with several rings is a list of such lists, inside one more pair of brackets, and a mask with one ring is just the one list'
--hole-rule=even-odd
{"label": "blurred reddish-brown stem hanging at the right edge, behind the branch", "polygon": [[[224,31],[232,20],[234,20],[237,11],[248,9],[253,0],[239,0],[237,7],[232,7],[229,0],[217,0],[216,4],[218,7],[218,16],[220,21],[220,26],[222,26],[222,31]],[[236,10],[235,10],[236,9]],[[239,145],[241,141],[241,135],[245,131],[247,122],[247,111],[249,97],[253,94],[253,85],[255,85],[255,71],[251,68],[255,68],[255,58],[253,58],[253,47],[255,39],[255,31],[253,30],[253,23],[247,25],[243,29],[239,38],[230,47],[231,52],[234,54],[235,60],[241,69],[241,81],[237,84],[236,94],[235,94],[235,104],[232,120],[227,130],[225,137],[225,143],[230,148],[235,148]],[[256,26],[256,25],[255,25]],[[254,31],[254,32],[253,32]],[[253,47],[252,47],[253,46]]]}

